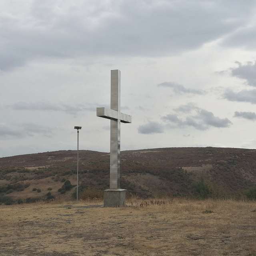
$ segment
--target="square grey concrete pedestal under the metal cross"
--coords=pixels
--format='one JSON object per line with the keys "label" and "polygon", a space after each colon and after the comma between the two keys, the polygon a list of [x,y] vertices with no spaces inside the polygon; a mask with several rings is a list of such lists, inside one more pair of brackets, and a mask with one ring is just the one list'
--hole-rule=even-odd
{"label": "square grey concrete pedestal under the metal cross", "polygon": [[126,189],[106,189],[104,190],[104,207],[125,206]]}

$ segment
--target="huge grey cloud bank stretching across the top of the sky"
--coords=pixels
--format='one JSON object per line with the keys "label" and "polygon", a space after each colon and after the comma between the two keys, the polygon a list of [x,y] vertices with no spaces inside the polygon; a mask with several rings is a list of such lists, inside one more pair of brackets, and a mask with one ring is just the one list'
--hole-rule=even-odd
{"label": "huge grey cloud bank stretching across the top of the sky", "polygon": [[0,37],[4,38],[0,70],[45,57],[177,54],[244,26],[254,3],[34,0],[14,4],[19,12],[8,1],[0,14]]}

